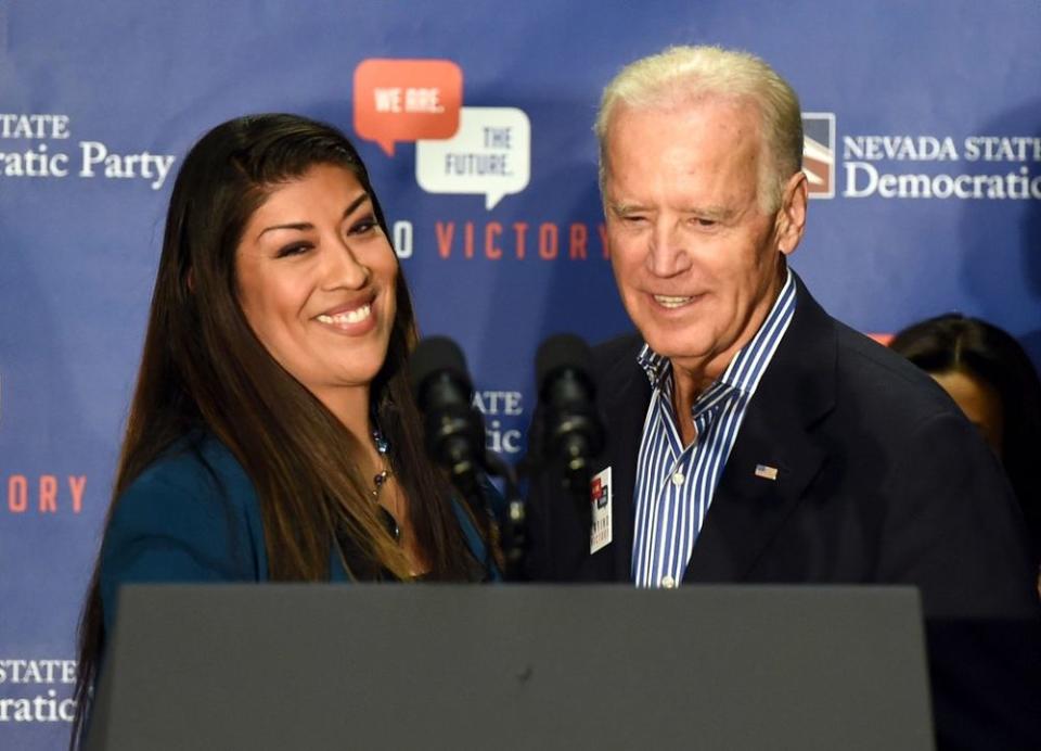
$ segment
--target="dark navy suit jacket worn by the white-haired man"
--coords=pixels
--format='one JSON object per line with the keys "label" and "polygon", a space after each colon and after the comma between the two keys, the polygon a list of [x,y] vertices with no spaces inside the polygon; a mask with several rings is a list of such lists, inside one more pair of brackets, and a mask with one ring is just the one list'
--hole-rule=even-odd
{"label": "dark navy suit jacket worn by the white-haired man", "polygon": [[[917,585],[927,614],[1037,608],[999,461],[930,378],[831,318],[800,280],[795,316],[749,404],[684,582]],[[629,335],[594,349],[614,542],[589,552],[589,501],[548,469],[530,493],[536,580],[630,581],[637,454],[651,397]],[[540,415],[532,434],[537,443]],[[757,464],[777,469],[759,478]]]}

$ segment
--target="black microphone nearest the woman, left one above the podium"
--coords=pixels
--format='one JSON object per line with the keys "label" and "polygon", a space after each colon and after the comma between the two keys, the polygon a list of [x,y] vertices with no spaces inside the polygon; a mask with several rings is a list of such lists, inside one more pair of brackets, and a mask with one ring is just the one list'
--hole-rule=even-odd
{"label": "black microphone nearest the woman, left one above the podium", "polygon": [[429,336],[415,347],[409,367],[412,393],[423,412],[426,450],[472,498],[477,494],[485,436],[480,415],[472,408],[474,387],[463,353],[446,336]]}

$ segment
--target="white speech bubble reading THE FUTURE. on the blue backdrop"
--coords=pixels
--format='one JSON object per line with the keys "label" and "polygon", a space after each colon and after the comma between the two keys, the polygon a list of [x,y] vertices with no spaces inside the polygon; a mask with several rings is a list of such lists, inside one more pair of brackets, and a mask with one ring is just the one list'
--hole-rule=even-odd
{"label": "white speech bubble reading THE FUTURE. on the blue backdrop", "polygon": [[531,177],[531,122],[516,107],[462,107],[448,139],[415,142],[415,181],[428,193],[478,193],[490,211]]}

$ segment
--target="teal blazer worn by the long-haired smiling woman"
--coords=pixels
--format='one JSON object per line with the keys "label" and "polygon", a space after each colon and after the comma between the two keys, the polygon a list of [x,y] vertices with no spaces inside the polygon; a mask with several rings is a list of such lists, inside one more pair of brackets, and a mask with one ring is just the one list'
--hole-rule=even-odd
{"label": "teal blazer worn by the long-haired smiling woman", "polygon": [[[484,562],[480,534],[458,501],[454,511],[470,551]],[[499,573],[488,576],[497,580]],[[112,633],[124,584],[267,578],[264,524],[253,483],[231,451],[206,436],[197,451],[187,445],[168,451],[117,499],[101,550],[105,632]],[[335,548],[330,580],[348,581]]]}

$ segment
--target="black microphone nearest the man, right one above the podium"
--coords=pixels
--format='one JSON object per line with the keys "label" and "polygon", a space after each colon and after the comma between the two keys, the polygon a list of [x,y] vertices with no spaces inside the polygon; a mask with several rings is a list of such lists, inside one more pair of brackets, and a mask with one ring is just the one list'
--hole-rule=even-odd
{"label": "black microphone nearest the man, right one above the podium", "polygon": [[565,486],[588,499],[591,460],[604,448],[592,353],[578,336],[558,334],[542,343],[535,362],[539,399],[545,407],[544,457],[563,462]]}

